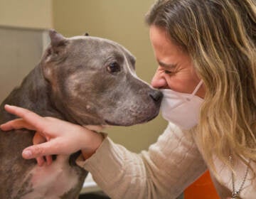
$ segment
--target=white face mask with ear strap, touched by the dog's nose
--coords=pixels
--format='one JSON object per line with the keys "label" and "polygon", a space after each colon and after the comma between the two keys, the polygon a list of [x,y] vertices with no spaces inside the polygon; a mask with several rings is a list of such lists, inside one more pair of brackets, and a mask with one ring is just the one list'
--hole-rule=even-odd
{"label": "white face mask with ear strap, touched by the dog's nose", "polygon": [[161,113],[164,119],[176,124],[181,129],[191,129],[198,124],[199,112],[203,99],[196,92],[203,84],[201,80],[192,94],[163,89]]}

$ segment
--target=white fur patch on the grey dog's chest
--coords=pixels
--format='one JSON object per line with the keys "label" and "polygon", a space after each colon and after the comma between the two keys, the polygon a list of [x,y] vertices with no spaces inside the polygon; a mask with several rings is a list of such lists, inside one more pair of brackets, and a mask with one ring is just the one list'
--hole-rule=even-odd
{"label": "white fur patch on the grey dog's chest", "polygon": [[[27,189],[18,193],[21,199],[57,199],[75,188],[79,183],[79,173],[70,167],[68,157],[58,156],[50,166],[35,166],[24,178]],[[27,193],[26,193],[27,192]]]}

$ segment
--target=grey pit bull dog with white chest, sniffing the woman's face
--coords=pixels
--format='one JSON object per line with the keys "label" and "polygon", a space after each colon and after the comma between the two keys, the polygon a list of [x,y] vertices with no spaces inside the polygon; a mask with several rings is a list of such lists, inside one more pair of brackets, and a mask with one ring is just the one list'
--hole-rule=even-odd
{"label": "grey pit bull dog with white chest, sniffing the woman's face", "polygon": [[[49,31],[41,61],[0,107],[0,123],[15,119],[4,104],[75,124],[130,126],[157,114],[162,94],[135,74],[134,56],[104,38],[65,38]],[[34,131],[0,131],[0,198],[78,198],[87,171],[75,164],[80,152],[55,156],[50,166],[24,160]]]}

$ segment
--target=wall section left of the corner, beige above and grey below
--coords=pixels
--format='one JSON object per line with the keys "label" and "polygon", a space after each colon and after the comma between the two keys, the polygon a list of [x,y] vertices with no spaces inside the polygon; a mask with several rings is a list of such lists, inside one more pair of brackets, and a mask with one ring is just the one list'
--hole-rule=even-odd
{"label": "wall section left of the corner, beige above and grey below", "polygon": [[0,0],[0,100],[41,58],[53,27],[51,0]]}

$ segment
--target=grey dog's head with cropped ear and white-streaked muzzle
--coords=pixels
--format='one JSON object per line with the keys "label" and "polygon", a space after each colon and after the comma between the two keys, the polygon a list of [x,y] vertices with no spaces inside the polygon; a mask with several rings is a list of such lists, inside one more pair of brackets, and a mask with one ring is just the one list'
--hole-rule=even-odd
{"label": "grey dog's head with cropped ear and white-streaked muzzle", "polygon": [[104,38],[50,31],[41,66],[58,111],[81,125],[129,126],[159,113],[162,94],[135,74],[135,58]]}

